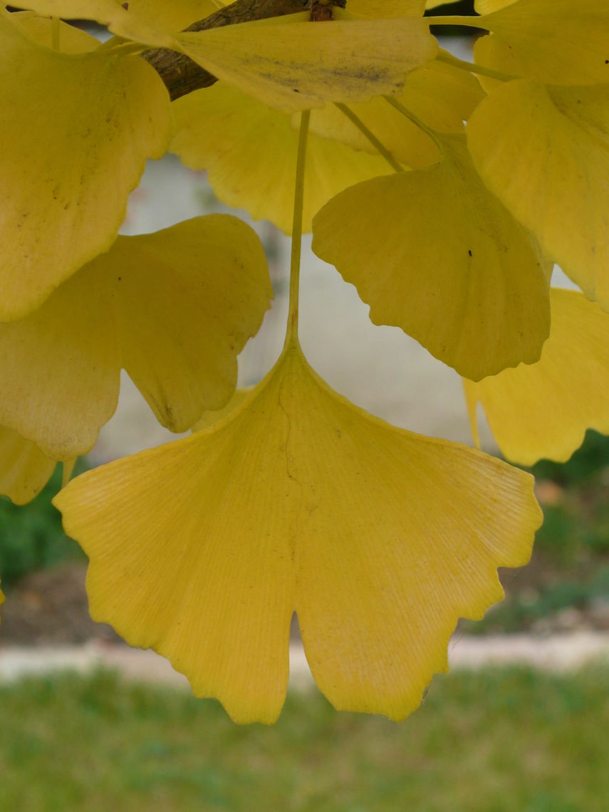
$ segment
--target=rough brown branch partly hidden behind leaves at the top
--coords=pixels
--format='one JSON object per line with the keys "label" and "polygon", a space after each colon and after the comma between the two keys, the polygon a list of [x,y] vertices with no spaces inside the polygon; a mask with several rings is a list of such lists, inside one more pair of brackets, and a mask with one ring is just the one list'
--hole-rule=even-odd
{"label": "rough brown branch partly hidden behind leaves at the top", "polygon": [[[254,19],[296,14],[297,11],[306,11],[309,8],[309,0],[236,0],[230,6],[225,6],[209,17],[193,23],[186,30],[205,31],[222,25],[247,23]],[[184,54],[158,48],[146,51],[142,55],[158,71],[172,99],[185,96],[192,90],[209,88],[209,85],[216,81],[215,76]]]}

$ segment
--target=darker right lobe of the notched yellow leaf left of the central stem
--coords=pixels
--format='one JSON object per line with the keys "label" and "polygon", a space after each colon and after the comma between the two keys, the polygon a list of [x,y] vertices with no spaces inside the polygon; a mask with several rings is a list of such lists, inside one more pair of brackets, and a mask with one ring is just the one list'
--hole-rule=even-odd
{"label": "darker right lobe of the notched yellow leaf left of the central stem", "polygon": [[244,222],[210,214],[123,238],[116,254],[91,272],[110,271],[123,367],[158,420],[184,431],[235,391],[236,356],[273,298],[264,249]]}

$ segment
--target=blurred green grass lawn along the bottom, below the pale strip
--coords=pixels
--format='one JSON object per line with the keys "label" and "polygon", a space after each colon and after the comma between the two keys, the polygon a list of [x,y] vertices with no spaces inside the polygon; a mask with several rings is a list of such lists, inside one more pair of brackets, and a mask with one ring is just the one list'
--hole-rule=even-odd
{"label": "blurred green grass lawn along the bottom, below the pale strip", "polygon": [[290,693],[274,728],[110,672],[0,688],[0,809],[606,812],[609,666],[434,679],[404,723]]}

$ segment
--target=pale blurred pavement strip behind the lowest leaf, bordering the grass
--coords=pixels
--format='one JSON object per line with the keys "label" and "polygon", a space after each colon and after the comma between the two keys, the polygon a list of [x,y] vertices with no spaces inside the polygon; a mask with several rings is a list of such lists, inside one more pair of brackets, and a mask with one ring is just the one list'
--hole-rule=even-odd
{"label": "pale blurred pavement strip behind the lowest leaf, bordering the grass", "polygon": [[[448,649],[451,669],[521,663],[546,671],[568,672],[591,661],[609,664],[609,633],[573,632],[548,637],[526,634],[496,637],[453,637]],[[90,642],[85,646],[0,648],[0,682],[53,672],[94,672],[110,668],[127,680],[188,688],[188,680],[151,650]],[[290,688],[313,687],[300,643],[290,646]]]}

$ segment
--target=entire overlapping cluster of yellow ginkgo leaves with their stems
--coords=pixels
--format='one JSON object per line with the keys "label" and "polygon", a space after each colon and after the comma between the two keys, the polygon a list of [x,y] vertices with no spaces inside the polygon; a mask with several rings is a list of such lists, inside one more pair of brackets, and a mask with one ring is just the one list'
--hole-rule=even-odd
{"label": "entire overlapping cluster of yellow ginkgo leaves with their stems", "polygon": [[[67,479],[126,369],[163,425],[196,430],[58,495],[93,616],[235,719],[270,722],[296,611],[335,706],[403,718],[446,670],[456,620],[501,598],[497,567],[525,564],[540,514],[525,473],[317,377],[297,335],[300,233],[375,323],[464,376],[473,425],[481,401],[511,459],[566,459],[609,430],[609,10],[478,0],[465,22],[490,33],[471,65],[438,48],[425,0],[185,30],[222,5],[0,11],[0,486],[24,503],[58,460]],[[170,102],[156,48],[217,81]],[[233,394],[272,295],[254,232],[210,215],[117,237],[168,149],[293,233],[286,342],[252,391]],[[555,262],[583,293],[551,290]]]}

